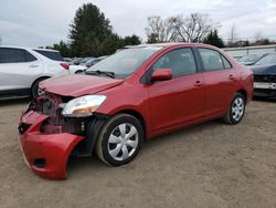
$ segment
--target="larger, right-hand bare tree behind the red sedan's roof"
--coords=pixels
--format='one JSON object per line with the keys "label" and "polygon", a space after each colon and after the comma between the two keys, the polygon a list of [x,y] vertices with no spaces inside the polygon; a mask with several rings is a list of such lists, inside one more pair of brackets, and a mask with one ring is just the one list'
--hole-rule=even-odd
{"label": "larger, right-hand bare tree behind the red sedan's roof", "polygon": [[187,18],[177,15],[173,18],[173,23],[178,40],[182,42],[202,42],[208,33],[219,28],[219,23],[214,23],[209,15],[201,13],[191,13]]}

